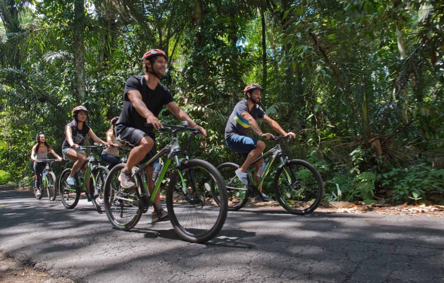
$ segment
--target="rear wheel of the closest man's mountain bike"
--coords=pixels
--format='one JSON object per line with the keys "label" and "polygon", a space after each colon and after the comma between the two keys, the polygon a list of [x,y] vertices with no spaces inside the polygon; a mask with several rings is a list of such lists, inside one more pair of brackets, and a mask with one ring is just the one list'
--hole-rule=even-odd
{"label": "rear wheel of the closest man's mountain bike", "polygon": [[114,228],[127,231],[139,222],[142,205],[139,204],[137,188],[143,186],[136,176],[136,188],[124,189],[120,186],[119,176],[125,164],[114,166],[108,173],[104,188],[104,207],[106,216]]}

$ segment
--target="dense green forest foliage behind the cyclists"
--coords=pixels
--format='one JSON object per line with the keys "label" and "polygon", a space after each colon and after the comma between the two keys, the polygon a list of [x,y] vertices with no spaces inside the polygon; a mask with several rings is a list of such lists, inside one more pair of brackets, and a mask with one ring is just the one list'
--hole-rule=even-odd
{"label": "dense green forest foliage behind the cyclists", "polygon": [[192,156],[239,162],[224,128],[257,82],[326,200],[443,199],[442,1],[1,0],[0,16],[0,166],[15,180],[30,182],[38,131],[61,154],[75,105],[104,137],[138,58],[161,48],[163,83],[209,134],[184,137]]}

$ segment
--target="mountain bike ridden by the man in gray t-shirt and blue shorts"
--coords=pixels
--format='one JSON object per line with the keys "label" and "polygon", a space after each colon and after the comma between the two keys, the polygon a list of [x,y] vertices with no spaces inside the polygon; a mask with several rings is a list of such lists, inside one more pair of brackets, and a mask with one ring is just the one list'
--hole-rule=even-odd
{"label": "mountain bike ridden by the man in gray t-shirt and blue shorts", "polygon": [[263,175],[256,184],[253,166],[248,170],[248,185],[244,185],[237,177],[235,170],[239,165],[231,162],[220,164],[217,169],[224,178],[227,186],[229,210],[241,209],[250,196],[259,194],[258,187],[264,183],[276,159],[281,164],[274,176],[273,187],[276,199],[282,207],[291,214],[305,215],[313,212],[324,195],[324,184],[322,177],[316,168],[307,161],[300,159],[288,159],[288,155],[281,147],[281,142],[289,142],[290,137],[276,136],[275,147],[258,157],[254,162],[268,159]]}

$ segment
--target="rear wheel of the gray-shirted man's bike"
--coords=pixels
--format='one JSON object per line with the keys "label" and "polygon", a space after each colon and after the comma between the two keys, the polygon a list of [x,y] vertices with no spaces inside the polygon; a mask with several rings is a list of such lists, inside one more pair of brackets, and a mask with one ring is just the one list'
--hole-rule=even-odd
{"label": "rear wheel of the gray-shirted man's bike", "polygon": [[240,181],[234,172],[238,168],[239,165],[232,162],[222,163],[217,166],[217,170],[222,175],[224,184],[227,187],[228,210],[230,211],[237,211],[243,208],[250,197],[248,188]]}

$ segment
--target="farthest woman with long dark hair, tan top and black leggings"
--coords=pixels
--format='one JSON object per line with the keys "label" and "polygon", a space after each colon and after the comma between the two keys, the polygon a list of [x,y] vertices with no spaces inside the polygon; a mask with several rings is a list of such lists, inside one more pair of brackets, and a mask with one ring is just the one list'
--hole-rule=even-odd
{"label": "farthest woman with long dark hair, tan top and black leggings", "polygon": [[48,152],[51,153],[59,161],[62,158],[53,150],[53,147],[46,142],[45,134],[38,133],[35,137],[36,143],[32,146],[31,150],[31,160],[34,162],[34,190],[36,190],[36,195],[40,196],[40,183],[42,182],[41,173],[46,166],[46,162],[40,162],[39,160],[48,159]]}

